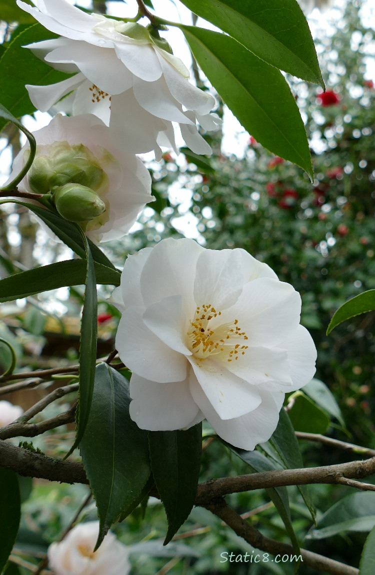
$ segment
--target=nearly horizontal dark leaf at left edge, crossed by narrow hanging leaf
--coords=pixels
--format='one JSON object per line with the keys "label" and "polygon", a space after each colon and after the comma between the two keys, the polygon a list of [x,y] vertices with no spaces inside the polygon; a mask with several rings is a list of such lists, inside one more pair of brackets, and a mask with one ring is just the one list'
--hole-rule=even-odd
{"label": "nearly horizontal dark leaf at left edge, crossed by narrow hanging leaf", "polygon": [[[94,263],[97,283],[120,285],[121,274],[111,267]],[[21,271],[0,279],[0,303],[18,300],[36,293],[59,287],[83,285],[86,280],[87,263],[84,259],[71,259]]]}

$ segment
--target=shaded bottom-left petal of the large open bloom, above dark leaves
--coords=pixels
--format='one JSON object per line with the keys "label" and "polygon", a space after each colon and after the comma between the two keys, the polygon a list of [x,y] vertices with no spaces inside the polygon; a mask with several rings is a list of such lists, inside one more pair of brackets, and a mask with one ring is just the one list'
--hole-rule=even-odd
{"label": "shaded bottom-left petal of the large open bloom, above dark leaves", "polygon": [[187,379],[159,384],[133,374],[130,394],[133,400],[129,409],[130,416],[144,430],[182,429],[189,426],[199,412]]}

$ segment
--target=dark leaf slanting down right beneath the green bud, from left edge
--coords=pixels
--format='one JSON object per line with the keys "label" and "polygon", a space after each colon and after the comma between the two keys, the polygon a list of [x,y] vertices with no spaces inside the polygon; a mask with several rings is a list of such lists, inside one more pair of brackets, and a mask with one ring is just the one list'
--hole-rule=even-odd
{"label": "dark leaf slanting down right beneath the green bud, from left edge", "polygon": [[[42,206],[28,204],[27,202],[21,202],[20,200],[9,200],[9,198],[6,200],[0,200],[0,205],[7,203],[18,204],[31,210],[46,225],[48,225],[49,229],[51,229],[51,231],[55,233],[55,235],[58,236],[59,239],[63,241],[64,244],[66,244],[66,246],[74,251],[75,254],[79,255],[80,258],[86,258],[85,244],[82,241],[82,236],[79,233],[79,228],[72,224],[70,221],[64,220],[64,218],[59,216],[59,214],[50,212]],[[93,255],[95,262],[115,269],[113,263],[107,258],[106,255],[104,255],[100,248],[95,246],[91,240],[87,241],[89,242],[91,254]]]}

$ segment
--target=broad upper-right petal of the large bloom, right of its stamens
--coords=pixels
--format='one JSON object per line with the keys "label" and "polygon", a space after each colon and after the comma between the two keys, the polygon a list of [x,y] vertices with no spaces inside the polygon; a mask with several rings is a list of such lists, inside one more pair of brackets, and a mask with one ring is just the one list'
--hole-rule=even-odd
{"label": "broad upper-right petal of the large bloom, right of its stamens", "polygon": [[243,286],[238,301],[224,310],[220,321],[238,319],[248,346],[282,348],[282,342],[299,325],[300,312],[300,294],[289,283],[259,278]]}

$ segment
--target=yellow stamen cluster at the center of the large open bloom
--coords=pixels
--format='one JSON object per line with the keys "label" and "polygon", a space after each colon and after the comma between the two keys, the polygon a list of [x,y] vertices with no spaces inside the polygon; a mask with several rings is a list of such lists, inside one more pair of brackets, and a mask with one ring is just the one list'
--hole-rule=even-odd
{"label": "yellow stamen cluster at the center of the large open bloom", "polygon": [[[211,304],[198,306],[194,319],[190,321],[187,332],[190,350],[199,361],[212,355],[219,355],[222,361],[231,362],[245,354],[248,346],[246,332],[238,325],[238,319],[232,323],[212,326],[212,320],[221,316]],[[217,324],[217,322],[215,322]]]}

